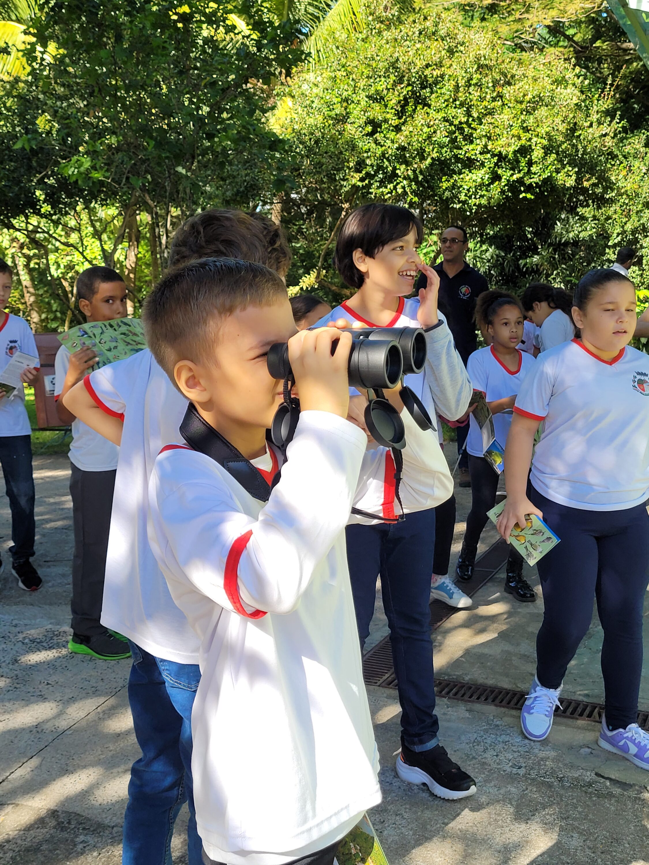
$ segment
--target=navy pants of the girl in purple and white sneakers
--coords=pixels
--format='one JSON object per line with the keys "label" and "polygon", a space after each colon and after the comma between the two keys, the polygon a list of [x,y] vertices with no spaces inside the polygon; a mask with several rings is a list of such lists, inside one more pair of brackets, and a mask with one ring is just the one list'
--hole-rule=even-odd
{"label": "navy pants of the girl in purple and white sneakers", "polygon": [[601,673],[606,718],[613,729],[638,718],[642,671],[642,606],[649,567],[649,516],[627,510],[567,508],[532,488],[531,501],[561,538],[538,562],[543,625],[537,636],[537,679],[558,688],[593,618],[604,631]]}

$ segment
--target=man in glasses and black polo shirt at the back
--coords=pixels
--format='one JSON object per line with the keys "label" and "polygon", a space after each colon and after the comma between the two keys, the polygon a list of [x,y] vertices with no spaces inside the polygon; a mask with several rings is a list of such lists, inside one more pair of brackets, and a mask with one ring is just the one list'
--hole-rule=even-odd
{"label": "man in glasses and black polo shirt at the back", "polygon": [[[464,365],[469,355],[478,348],[475,322],[475,304],[488,285],[482,273],[466,264],[464,259],[469,248],[466,229],[458,225],[447,228],[440,237],[442,260],[434,266],[440,274],[440,311],[447,319]],[[426,277],[421,273],[417,288],[426,287]],[[464,447],[469,425],[458,426],[458,452]],[[470,487],[469,458],[466,451],[459,461],[459,485]]]}

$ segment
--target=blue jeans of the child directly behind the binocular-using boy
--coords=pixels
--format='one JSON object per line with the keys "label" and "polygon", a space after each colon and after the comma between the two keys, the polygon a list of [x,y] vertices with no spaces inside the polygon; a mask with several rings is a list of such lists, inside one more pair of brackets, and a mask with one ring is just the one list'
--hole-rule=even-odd
{"label": "blue jeans of the child directly behind the binocular-using boy", "polygon": [[129,640],[133,727],[142,756],[131,769],[124,815],[123,865],[171,865],[171,836],[183,802],[190,806],[190,865],[202,865],[191,783],[191,708],[197,664],[154,657]]}

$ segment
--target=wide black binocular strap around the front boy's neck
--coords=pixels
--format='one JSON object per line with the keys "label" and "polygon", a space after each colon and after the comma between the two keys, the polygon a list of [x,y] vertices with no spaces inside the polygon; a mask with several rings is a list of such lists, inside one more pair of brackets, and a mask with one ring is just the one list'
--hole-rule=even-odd
{"label": "wide black binocular strap around the front boy's neck", "polygon": [[230,445],[228,439],[224,439],[220,432],[209,426],[207,420],[202,419],[191,402],[180,425],[180,434],[195,451],[204,453],[222,465],[250,496],[259,502],[268,501],[271,488],[265,478],[249,459],[237,451],[234,445]]}

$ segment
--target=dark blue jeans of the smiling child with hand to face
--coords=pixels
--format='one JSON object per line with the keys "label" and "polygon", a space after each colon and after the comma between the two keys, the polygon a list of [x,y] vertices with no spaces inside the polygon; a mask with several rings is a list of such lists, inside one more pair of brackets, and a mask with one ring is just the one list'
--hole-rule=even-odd
{"label": "dark blue jeans of the smiling child with hand to face", "polygon": [[361,646],[374,615],[376,577],[381,576],[392,657],[402,707],[402,731],[413,751],[437,745],[430,578],[435,512],[408,514],[403,522],[347,527],[347,561]]}

